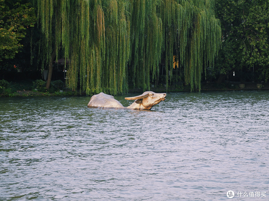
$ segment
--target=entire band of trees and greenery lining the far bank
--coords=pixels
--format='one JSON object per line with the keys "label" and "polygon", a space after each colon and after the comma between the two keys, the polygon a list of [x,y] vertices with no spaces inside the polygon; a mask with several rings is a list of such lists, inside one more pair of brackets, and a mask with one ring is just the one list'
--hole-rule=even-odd
{"label": "entire band of trees and greenery lining the far bank", "polygon": [[269,0],[3,0],[0,13],[9,96],[27,80],[40,93],[61,80],[68,93],[116,95],[269,77]]}

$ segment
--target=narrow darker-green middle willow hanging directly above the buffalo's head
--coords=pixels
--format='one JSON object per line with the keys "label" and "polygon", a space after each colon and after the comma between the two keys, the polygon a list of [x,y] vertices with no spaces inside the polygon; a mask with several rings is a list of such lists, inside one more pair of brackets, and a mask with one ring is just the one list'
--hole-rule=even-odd
{"label": "narrow darker-green middle willow hanging directly above the buffalo's head", "polygon": [[150,89],[150,81],[158,74],[163,50],[162,19],[157,13],[159,3],[157,0],[130,1],[129,78],[132,80],[129,81],[143,90]]}

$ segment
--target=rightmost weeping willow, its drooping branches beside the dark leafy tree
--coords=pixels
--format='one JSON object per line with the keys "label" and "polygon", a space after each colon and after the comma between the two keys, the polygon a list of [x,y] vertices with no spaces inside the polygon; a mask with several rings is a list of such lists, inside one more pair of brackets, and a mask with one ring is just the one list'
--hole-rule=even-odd
{"label": "rightmost weeping willow, its drooping branches beside the dark leafy tree", "polygon": [[[214,0],[162,1],[166,72],[173,69],[174,57],[186,84],[200,91],[201,73],[211,67],[221,43],[220,20],[215,18]],[[172,73],[170,75],[172,78]],[[168,82],[168,73],[166,73]]]}

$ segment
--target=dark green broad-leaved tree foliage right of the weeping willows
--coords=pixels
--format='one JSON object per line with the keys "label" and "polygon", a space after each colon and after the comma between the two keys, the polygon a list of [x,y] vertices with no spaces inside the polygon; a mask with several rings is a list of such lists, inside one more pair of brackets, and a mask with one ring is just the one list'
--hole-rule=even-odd
{"label": "dark green broad-leaved tree foliage right of the weeping willows", "polygon": [[269,1],[216,0],[216,10],[223,42],[215,74],[238,71],[241,81],[267,81]]}

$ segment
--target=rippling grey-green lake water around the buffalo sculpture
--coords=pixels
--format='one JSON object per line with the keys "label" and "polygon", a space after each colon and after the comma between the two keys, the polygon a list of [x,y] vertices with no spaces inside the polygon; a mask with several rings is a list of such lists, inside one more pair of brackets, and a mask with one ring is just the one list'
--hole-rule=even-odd
{"label": "rippling grey-green lake water around the buffalo sculpture", "polygon": [[267,200],[268,95],[168,93],[150,111],[0,98],[0,200]]}

